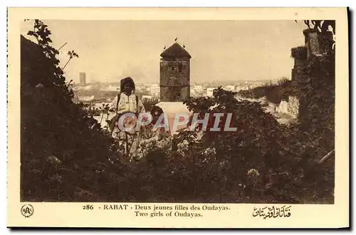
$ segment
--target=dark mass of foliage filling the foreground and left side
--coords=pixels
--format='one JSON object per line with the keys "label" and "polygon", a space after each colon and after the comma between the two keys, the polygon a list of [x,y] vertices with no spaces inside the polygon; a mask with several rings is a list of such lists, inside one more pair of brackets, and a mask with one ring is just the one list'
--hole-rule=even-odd
{"label": "dark mass of foliage filling the foreground and left side", "polygon": [[[35,26],[46,31],[41,21]],[[172,151],[117,158],[115,141],[71,102],[58,51],[48,40],[40,48],[21,43],[21,200],[333,202],[333,162],[315,163],[331,143],[321,145],[318,131],[282,126],[221,88],[186,104],[198,113],[234,113],[237,131],[182,130]]]}

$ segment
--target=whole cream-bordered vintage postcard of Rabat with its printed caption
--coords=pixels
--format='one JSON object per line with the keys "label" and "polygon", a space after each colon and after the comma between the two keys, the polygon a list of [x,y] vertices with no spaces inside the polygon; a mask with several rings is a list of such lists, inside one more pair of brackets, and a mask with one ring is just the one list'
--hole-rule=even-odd
{"label": "whole cream-bordered vintage postcard of Rabat with its printed caption", "polygon": [[9,8],[8,226],[349,226],[346,8]]}

